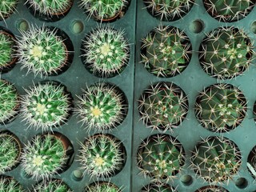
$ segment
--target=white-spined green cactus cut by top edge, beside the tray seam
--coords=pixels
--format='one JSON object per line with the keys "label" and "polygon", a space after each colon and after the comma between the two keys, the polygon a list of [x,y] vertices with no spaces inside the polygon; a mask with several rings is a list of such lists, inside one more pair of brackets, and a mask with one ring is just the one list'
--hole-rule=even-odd
{"label": "white-spined green cactus cut by top edge, beside the tray seam", "polygon": [[127,3],[126,0],[81,0],[80,6],[86,10],[89,18],[94,16],[102,22],[118,17]]}

